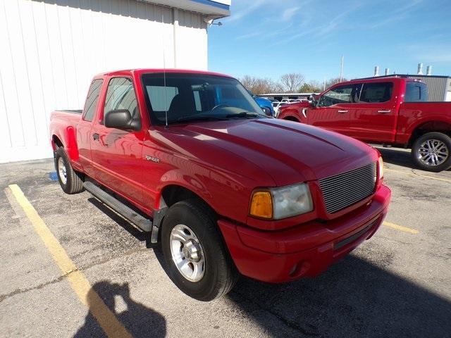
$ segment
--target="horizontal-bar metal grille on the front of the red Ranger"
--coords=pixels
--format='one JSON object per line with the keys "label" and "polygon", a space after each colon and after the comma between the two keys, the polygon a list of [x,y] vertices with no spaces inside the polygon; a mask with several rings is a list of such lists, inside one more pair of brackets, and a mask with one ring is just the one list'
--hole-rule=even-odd
{"label": "horizontal-bar metal grille on the front of the red Ranger", "polygon": [[376,162],[319,180],[328,213],[336,213],[370,196],[376,186]]}

